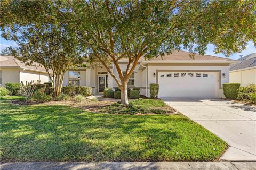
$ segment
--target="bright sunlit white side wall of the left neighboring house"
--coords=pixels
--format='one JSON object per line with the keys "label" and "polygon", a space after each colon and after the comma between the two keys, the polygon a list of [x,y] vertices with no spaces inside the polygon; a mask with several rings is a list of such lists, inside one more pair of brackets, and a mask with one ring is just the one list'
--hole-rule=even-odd
{"label": "bright sunlit white side wall of the left neighboring house", "polygon": [[37,81],[40,80],[41,84],[48,82],[49,81],[49,77],[46,73],[40,73],[40,72],[35,72],[35,71],[29,71],[29,70],[25,70],[25,71],[21,71],[20,72],[20,82],[30,82],[30,81]]}

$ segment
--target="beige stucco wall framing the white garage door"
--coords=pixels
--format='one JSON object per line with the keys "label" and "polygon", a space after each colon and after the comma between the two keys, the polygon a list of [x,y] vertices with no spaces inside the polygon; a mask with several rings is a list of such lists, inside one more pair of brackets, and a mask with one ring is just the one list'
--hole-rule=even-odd
{"label": "beige stucco wall framing the white garage door", "polygon": [[[225,73],[226,76],[221,75],[221,89],[218,89],[218,97],[223,97],[223,89],[222,84],[229,82],[229,65],[226,66],[179,66],[179,65],[173,65],[173,66],[167,66],[167,65],[148,65],[148,86],[150,83],[156,83],[156,77],[154,77],[154,73],[156,73],[156,70],[220,70],[221,74]],[[220,81],[220,80],[218,80]],[[149,97],[149,88],[148,88],[148,95]]]}

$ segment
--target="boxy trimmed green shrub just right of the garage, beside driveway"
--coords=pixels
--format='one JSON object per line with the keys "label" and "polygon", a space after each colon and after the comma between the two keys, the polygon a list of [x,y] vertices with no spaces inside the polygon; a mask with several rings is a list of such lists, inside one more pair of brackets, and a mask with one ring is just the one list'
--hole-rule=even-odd
{"label": "boxy trimmed green shrub just right of the garage, beside driveway", "polygon": [[227,99],[237,99],[239,95],[239,83],[226,83],[223,84],[224,95]]}

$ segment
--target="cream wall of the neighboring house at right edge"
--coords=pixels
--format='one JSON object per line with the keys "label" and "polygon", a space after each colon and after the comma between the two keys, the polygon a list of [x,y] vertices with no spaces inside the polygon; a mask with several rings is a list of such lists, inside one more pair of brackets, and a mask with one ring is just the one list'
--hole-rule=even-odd
{"label": "cream wall of the neighboring house at right edge", "polygon": [[256,84],[256,69],[230,72],[230,82],[240,83],[242,87],[248,84]]}

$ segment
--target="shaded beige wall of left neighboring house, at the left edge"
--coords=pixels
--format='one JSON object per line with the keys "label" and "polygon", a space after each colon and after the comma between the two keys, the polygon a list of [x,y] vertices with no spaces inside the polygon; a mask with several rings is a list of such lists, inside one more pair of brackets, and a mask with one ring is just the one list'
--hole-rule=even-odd
{"label": "shaded beige wall of left neighboring house, at the left edge", "polygon": [[5,86],[7,82],[19,82],[19,71],[17,68],[1,68],[2,71],[2,83],[0,86]]}

